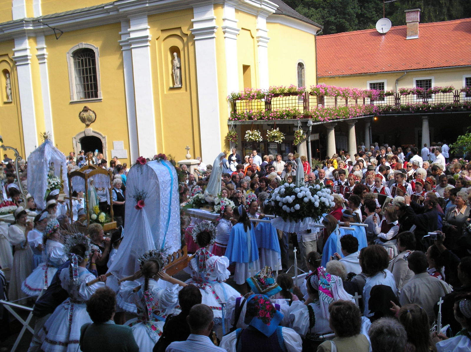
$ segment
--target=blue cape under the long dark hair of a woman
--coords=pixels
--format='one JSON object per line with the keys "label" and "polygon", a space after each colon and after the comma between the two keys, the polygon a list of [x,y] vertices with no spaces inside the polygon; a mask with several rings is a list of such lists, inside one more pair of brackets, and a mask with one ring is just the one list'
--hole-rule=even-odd
{"label": "blue cape under the long dark hair of a woman", "polygon": [[[250,234],[251,253],[247,243],[248,234]],[[259,247],[255,239],[255,233],[252,229],[244,231],[244,224],[238,223],[232,226],[229,242],[227,243],[226,254],[230,262],[252,263],[259,259]]]}

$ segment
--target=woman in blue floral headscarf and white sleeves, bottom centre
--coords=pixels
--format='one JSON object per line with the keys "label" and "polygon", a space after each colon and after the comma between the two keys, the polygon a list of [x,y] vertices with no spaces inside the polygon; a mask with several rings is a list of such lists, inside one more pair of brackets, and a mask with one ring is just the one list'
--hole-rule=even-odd
{"label": "woman in blue floral headscarf and white sleeves, bottom centre", "polygon": [[244,323],[247,328],[236,329],[224,336],[219,347],[227,352],[300,352],[302,341],[291,328],[281,327],[283,314],[278,312],[265,295],[247,299]]}

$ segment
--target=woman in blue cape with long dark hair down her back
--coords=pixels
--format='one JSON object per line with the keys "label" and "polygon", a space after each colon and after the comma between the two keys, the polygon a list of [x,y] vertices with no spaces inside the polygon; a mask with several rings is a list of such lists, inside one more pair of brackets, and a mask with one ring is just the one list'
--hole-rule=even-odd
{"label": "woman in blue cape with long dark hair down her back", "polygon": [[242,204],[234,209],[234,217],[237,219],[237,224],[232,227],[226,256],[230,262],[235,262],[235,283],[243,285],[241,292],[245,294],[247,293],[245,280],[260,270],[259,248],[253,225]]}

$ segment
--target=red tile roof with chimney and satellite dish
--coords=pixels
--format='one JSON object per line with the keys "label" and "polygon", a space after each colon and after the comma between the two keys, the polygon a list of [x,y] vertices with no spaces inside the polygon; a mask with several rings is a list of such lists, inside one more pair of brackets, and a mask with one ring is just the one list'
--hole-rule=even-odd
{"label": "red tile roof with chimney and satellite dish", "polygon": [[406,26],[317,37],[318,77],[465,65],[471,65],[471,18],[419,24],[418,39],[406,40]]}

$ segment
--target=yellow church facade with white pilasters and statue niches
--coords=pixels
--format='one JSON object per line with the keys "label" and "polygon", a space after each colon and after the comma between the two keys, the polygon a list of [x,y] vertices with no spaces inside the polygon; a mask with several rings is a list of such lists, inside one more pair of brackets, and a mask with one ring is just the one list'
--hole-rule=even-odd
{"label": "yellow church facade with white pilasters and statue niches", "polygon": [[230,92],[300,69],[316,84],[320,30],[280,0],[0,0],[0,134],[24,158],[48,132],[65,154],[179,160],[188,145],[209,163],[229,148]]}

